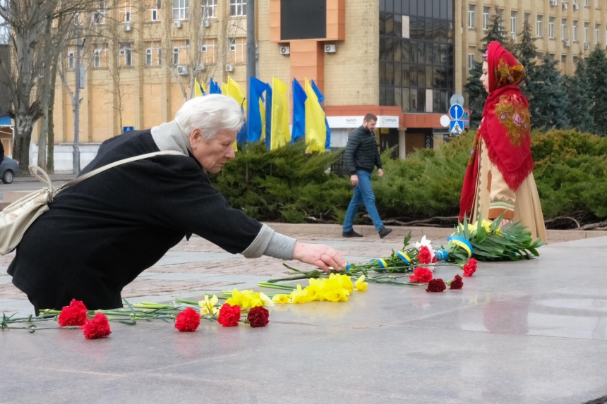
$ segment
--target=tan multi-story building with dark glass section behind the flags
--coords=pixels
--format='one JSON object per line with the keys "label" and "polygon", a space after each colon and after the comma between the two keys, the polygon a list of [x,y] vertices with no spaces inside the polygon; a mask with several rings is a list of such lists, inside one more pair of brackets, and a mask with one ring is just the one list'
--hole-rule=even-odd
{"label": "tan multi-story building with dark glass section behind the flags", "polygon": [[[349,131],[373,112],[380,116],[380,147],[397,145],[404,157],[443,142],[440,117],[453,94],[464,94],[495,7],[515,42],[529,20],[539,52],[571,74],[580,55],[595,43],[605,46],[607,3],[600,1],[258,0],[256,75],[287,85],[315,80],[325,94],[332,147],[344,146]],[[88,39],[82,58],[83,164],[124,128],[172,120],[193,96],[194,78],[229,76],[246,87],[246,0],[121,0],[112,10],[103,3],[81,20],[104,32]],[[71,45],[62,59],[71,90],[75,65]],[[58,86],[57,169],[71,168],[73,102]]]}

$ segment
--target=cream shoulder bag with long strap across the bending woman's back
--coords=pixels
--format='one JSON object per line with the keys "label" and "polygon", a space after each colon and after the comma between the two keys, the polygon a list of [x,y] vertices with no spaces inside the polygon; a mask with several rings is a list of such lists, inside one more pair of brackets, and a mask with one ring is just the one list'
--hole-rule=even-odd
{"label": "cream shoulder bag with long strap across the bending woman's back", "polygon": [[53,198],[62,190],[70,187],[71,185],[76,185],[87,178],[95,176],[102,171],[112,169],[115,166],[130,163],[131,161],[148,159],[150,157],[166,154],[184,156],[183,153],[172,150],[166,152],[141,154],[140,156],[115,161],[112,164],[107,164],[107,166],[90,171],[90,173],[86,173],[83,176],[73,179],[64,185],[61,185],[59,188],[53,188],[51,179],[40,167],[31,165],[30,173],[32,173],[32,176],[35,176],[41,180],[42,183],[47,185],[47,187],[42,188],[42,190],[34,191],[29,195],[25,195],[25,197],[13,202],[4,208],[2,212],[0,212],[0,255],[6,255],[15,250],[17,245],[20,243],[21,238],[23,238],[25,231],[28,230],[38,216],[49,210],[49,203],[53,202]]}

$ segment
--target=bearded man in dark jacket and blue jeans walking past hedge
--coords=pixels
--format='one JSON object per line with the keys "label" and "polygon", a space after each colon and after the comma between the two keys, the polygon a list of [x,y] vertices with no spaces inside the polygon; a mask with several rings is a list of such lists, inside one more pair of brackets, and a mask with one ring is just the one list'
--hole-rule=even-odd
{"label": "bearded man in dark jacket and blue jeans walking past hedge", "polygon": [[375,195],[371,188],[371,173],[375,166],[378,168],[378,176],[383,176],[381,169],[381,157],[378,151],[378,145],[375,141],[373,129],[377,125],[378,117],[373,114],[366,114],[363,120],[363,126],[356,128],[348,137],[346,146],[346,165],[350,173],[350,181],[354,186],[354,196],[348,206],[346,219],[344,220],[344,237],[362,237],[362,234],[356,233],[352,228],[356,212],[362,203],[365,204],[373,225],[377,229],[380,238],[390,234],[391,228],[385,228],[381,221],[378,209],[375,207]]}

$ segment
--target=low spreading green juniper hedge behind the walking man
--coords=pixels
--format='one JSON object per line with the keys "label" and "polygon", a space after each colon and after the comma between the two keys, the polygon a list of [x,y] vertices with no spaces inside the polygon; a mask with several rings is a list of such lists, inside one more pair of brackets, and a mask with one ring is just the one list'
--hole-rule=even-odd
{"label": "low spreading green juniper hedge behind the walking man", "polygon": [[[403,220],[455,216],[474,133],[407,159],[383,154],[385,175],[373,173],[380,215]],[[306,223],[313,216],[342,223],[352,195],[347,176],[327,173],[341,150],[306,154],[296,144],[268,152],[250,145],[212,176],[232,207],[259,220]],[[574,130],[532,133],[534,176],[546,219],[572,216],[589,223],[607,217],[607,139]],[[363,209],[361,209],[361,214]]]}

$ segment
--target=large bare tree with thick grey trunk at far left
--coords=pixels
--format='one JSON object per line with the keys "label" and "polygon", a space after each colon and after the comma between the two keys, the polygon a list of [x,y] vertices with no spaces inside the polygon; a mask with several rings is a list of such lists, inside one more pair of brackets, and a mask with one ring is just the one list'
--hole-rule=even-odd
{"label": "large bare tree with thick grey trunk at far left", "polygon": [[[44,116],[44,91],[32,90],[36,79],[49,67],[52,53],[61,52],[59,47],[44,46],[49,23],[58,18],[73,23],[74,18],[80,18],[98,3],[99,0],[0,0],[0,18],[10,27],[9,44],[13,51],[10,82],[13,108],[9,111],[15,120],[13,157],[24,168],[30,164],[33,126]],[[22,170],[21,175],[29,176],[28,170]]]}

